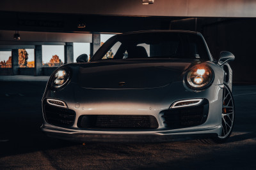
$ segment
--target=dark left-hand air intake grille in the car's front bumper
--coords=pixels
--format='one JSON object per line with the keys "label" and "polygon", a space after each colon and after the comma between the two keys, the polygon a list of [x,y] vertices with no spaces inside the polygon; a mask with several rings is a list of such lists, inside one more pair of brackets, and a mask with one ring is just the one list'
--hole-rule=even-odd
{"label": "dark left-hand air intake grille in the car's front bumper", "polygon": [[70,127],[74,124],[76,112],[74,110],[45,104],[44,117],[49,124]]}

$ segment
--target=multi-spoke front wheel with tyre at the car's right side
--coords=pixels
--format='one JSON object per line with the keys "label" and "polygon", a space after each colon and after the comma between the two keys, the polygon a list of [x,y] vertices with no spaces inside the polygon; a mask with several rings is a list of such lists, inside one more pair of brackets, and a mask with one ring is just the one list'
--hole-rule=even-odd
{"label": "multi-spoke front wheel with tyre at the car's right side", "polygon": [[235,120],[235,106],[232,92],[224,85],[223,97],[222,97],[222,113],[221,113],[221,125],[222,131],[220,136],[213,138],[216,143],[225,142],[231,135]]}

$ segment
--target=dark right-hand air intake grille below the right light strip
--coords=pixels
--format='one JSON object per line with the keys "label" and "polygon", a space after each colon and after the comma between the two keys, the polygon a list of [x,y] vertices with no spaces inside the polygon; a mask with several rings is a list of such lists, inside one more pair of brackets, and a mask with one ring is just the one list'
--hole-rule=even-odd
{"label": "dark right-hand air intake grille below the right light strip", "polygon": [[202,125],[207,120],[209,102],[204,99],[198,106],[175,108],[161,111],[165,127],[179,129]]}

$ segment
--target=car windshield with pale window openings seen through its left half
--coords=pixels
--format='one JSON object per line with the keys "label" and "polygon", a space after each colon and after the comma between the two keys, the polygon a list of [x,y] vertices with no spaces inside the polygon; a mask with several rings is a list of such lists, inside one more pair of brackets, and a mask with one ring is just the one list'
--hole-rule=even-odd
{"label": "car windshield with pale window openings seen through its left half", "polygon": [[209,54],[202,37],[188,32],[144,32],[115,36],[106,45],[103,55],[94,60],[106,59],[202,59]]}

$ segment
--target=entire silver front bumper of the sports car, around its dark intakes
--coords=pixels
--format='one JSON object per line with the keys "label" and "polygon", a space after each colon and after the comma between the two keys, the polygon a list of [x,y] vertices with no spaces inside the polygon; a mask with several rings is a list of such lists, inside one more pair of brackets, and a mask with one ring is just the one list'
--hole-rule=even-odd
{"label": "entire silver front bumper of the sports car, around its dark intakes", "polygon": [[[210,138],[221,133],[221,97],[222,90],[218,85],[212,85],[202,92],[193,92],[184,89],[182,82],[159,89],[120,91],[83,89],[76,83],[70,83],[60,92],[47,90],[43,100],[51,98],[65,101],[70,110],[76,111],[74,124],[70,127],[60,127],[47,123],[44,117],[41,129],[47,136],[77,142],[144,143]],[[166,127],[162,117],[163,110],[168,110],[175,101],[196,98],[209,101],[209,114],[204,124],[179,129]],[[159,127],[145,131],[83,129],[77,126],[79,117],[83,115],[152,115],[156,117]]]}

